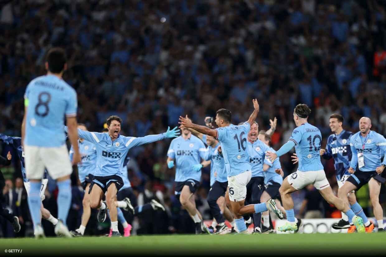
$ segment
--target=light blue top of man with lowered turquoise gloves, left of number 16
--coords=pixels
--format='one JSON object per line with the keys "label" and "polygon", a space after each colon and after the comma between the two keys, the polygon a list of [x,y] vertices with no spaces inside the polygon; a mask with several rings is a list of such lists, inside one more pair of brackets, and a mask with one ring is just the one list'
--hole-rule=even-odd
{"label": "light blue top of man with lowered turquoise gloves, left of number 16", "polygon": [[183,182],[188,179],[201,180],[201,170],[193,171],[192,166],[200,163],[200,157],[204,159],[204,143],[196,136],[191,135],[185,140],[182,136],[173,139],[168,150],[168,157],[176,160],[175,181]]}

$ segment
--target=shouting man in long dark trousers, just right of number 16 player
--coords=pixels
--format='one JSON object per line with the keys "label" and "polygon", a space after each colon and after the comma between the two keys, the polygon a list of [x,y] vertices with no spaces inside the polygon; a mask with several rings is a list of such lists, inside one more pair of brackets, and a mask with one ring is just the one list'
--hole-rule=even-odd
{"label": "shouting man in long dark trousers, just right of number 16 player", "polygon": [[[242,125],[239,124],[239,125]],[[264,191],[264,178],[266,176],[264,170],[265,153],[270,150],[269,147],[264,144],[259,138],[259,125],[257,122],[253,122],[247,136],[247,152],[249,156],[249,164],[252,167],[252,177],[247,184],[247,203],[257,204],[260,203],[261,195]],[[268,161],[269,162],[269,161]],[[281,170],[279,159],[276,159],[273,164],[276,169]],[[266,201],[269,200],[266,199]],[[264,211],[266,213],[266,211]],[[268,212],[269,215],[269,212]],[[256,234],[261,233],[261,212],[253,214],[254,220],[254,232]],[[251,222],[246,221],[246,225]]]}

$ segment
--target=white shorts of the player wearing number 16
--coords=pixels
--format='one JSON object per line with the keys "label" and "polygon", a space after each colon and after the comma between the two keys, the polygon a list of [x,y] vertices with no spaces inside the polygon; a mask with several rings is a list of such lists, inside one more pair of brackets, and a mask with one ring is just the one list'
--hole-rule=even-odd
{"label": "white shorts of the player wearing number 16", "polygon": [[229,200],[239,202],[247,197],[247,184],[251,180],[252,171],[245,171],[236,176],[228,177]]}

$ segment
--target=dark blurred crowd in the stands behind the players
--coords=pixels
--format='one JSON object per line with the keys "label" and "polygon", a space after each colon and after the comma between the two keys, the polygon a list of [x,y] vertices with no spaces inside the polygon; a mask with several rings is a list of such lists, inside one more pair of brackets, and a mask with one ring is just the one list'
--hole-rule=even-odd
{"label": "dark blurred crowd in the stands behind the players", "polygon": [[[116,114],[123,119],[123,135],[141,137],[178,125],[179,115],[204,124],[219,108],[230,109],[233,123],[239,123],[257,98],[260,129],[278,118],[276,150],[295,127],[297,103],[311,107],[309,122],[320,128],[322,145],[332,113],[344,116],[346,130],[357,132],[359,118],[367,116],[372,130],[386,134],[386,7],[376,0],[0,2],[4,134],[20,136],[25,87],[45,74],[44,54],[52,46],[68,54],[64,79],[77,91],[78,121],[90,131],[100,131]],[[169,142],[130,152],[129,179],[139,195],[159,192],[171,221],[166,232],[185,232],[184,222],[191,221],[173,195]],[[2,147],[2,153],[12,151]],[[285,175],[296,169],[289,154],[280,159]],[[336,186],[333,161],[322,162]],[[16,154],[12,163],[2,171],[15,181]],[[211,218],[205,212],[207,169],[201,182],[198,206]],[[53,185],[48,193],[54,190]],[[360,194],[366,208],[366,189]],[[385,194],[383,186],[383,206]],[[322,210],[325,217],[334,212],[328,205]]]}

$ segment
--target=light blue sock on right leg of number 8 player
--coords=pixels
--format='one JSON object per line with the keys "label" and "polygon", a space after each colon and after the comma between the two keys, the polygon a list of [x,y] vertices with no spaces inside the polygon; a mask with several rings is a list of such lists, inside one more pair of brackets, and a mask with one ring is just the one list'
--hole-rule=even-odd
{"label": "light blue sock on right leg of number 8 player", "polygon": [[67,222],[68,211],[71,206],[71,180],[66,179],[58,182],[58,219],[63,221],[64,225]]}

